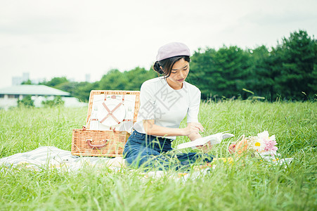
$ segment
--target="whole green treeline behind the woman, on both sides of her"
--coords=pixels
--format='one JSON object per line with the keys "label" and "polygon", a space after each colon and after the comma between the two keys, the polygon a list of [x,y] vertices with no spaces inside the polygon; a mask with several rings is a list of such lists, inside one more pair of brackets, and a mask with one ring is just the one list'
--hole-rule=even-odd
{"label": "whole green treeline behind the woman, on both sides of her", "polygon": [[[302,101],[316,98],[317,41],[304,30],[283,37],[271,49],[266,46],[198,49],[191,60],[187,81],[202,91],[203,99],[259,96],[268,101],[276,98]],[[93,83],[56,77],[41,84],[88,101],[93,89],[139,90],[145,80],[153,77],[157,77],[154,70],[134,68],[125,72],[110,70]]]}

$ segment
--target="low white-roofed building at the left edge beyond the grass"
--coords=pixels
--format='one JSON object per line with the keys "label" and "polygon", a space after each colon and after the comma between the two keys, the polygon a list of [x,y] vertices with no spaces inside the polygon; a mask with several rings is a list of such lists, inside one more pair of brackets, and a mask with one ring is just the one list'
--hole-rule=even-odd
{"label": "low white-roofed building at the left edge beyond the grass", "polygon": [[44,85],[17,85],[0,89],[0,108],[8,109],[18,106],[18,100],[25,96],[32,96],[35,107],[41,107],[42,101],[53,100],[55,96],[61,96],[65,107],[82,107],[87,103],[79,102],[77,98],[70,97],[66,91],[54,89]]}

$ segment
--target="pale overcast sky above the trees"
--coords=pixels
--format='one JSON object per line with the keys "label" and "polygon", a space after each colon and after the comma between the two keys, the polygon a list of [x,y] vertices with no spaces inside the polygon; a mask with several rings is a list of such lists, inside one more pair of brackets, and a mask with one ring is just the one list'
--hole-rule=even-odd
{"label": "pale overcast sky above the trees", "polygon": [[0,88],[12,77],[101,79],[150,69],[157,49],[276,46],[291,32],[317,34],[316,0],[0,0]]}

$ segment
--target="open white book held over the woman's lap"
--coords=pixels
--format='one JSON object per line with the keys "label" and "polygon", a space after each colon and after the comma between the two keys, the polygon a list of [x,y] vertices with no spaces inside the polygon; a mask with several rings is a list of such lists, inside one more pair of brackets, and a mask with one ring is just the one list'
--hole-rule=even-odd
{"label": "open white book held over the woman's lap", "polygon": [[205,136],[200,139],[196,139],[195,141],[181,143],[177,145],[175,148],[176,149],[188,148],[188,147],[195,148],[195,146],[205,145],[205,143],[207,143],[208,141],[211,143],[211,145],[214,145],[217,143],[221,143],[222,140],[231,138],[233,136],[234,136],[233,134],[225,134],[224,132],[222,132],[222,133],[213,134],[210,136]]}

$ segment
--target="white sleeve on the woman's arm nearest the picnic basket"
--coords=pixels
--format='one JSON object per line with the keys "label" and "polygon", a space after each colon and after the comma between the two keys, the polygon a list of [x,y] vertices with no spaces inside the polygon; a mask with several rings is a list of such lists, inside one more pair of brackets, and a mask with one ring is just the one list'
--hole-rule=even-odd
{"label": "white sleeve on the woman's arm nearest the picnic basket", "polygon": [[138,120],[154,120],[155,96],[153,88],[146,82],[141,86]]}

